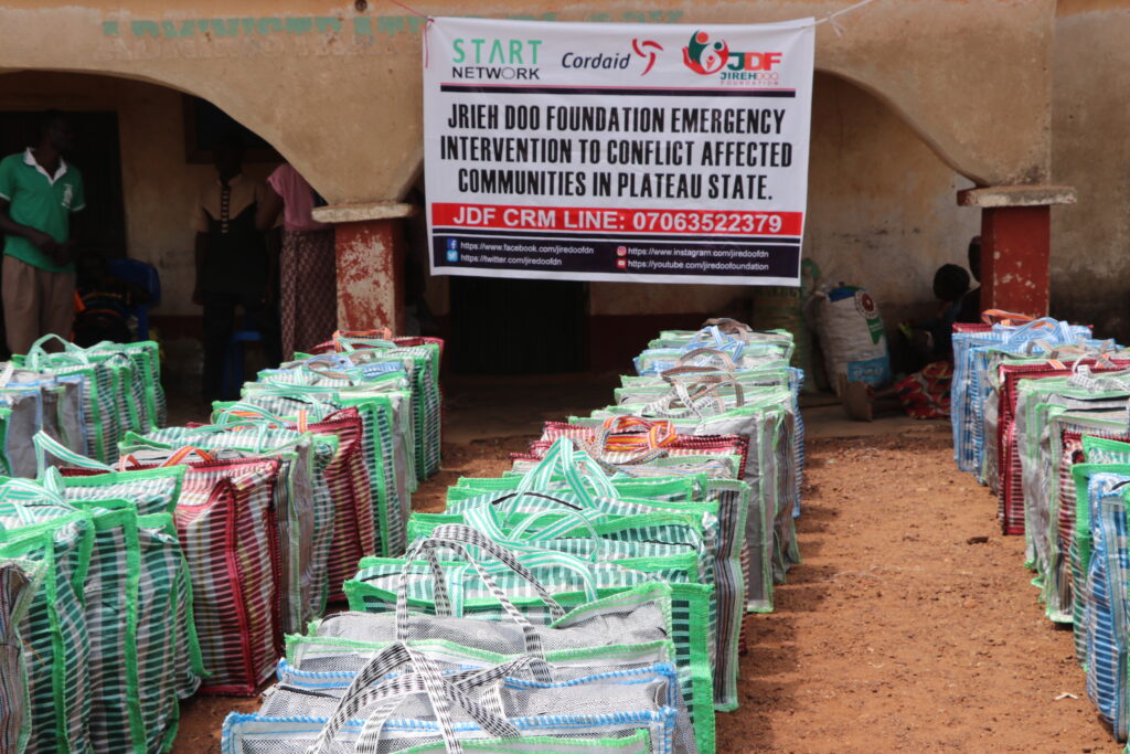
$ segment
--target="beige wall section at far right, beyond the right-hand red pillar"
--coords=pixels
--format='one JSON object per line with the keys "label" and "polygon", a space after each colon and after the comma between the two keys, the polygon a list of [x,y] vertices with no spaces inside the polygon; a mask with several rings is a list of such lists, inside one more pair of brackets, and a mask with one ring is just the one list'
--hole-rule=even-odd
{"label": "beige wall section at far right, beyond the right-hand red pillar", "polygon": [[1052,211],[1052,313],[1130,338],[1130,1],[1061,2],[1053,167],[1079,203]]}

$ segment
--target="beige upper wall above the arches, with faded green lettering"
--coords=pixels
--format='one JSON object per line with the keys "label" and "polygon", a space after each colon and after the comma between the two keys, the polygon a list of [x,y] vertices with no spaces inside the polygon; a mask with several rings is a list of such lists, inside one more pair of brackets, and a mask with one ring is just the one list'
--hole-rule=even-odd
{"label": "beige upper wall above the arches, with faded green lettering", "polygon": [[[473,11],[753,23],[849,5],[493,0]],[[426,9],[466,14],[468,5],[437,0]],[[842,35],[820,26],[817,67],[877,93],[977,182],[1040,182],[1050,163],[1054,9],[1054,0],[876,0],[842,17]],[[385,0],[119,0],[104,8],[8,0],[0,68],[116,72],[199,94],[278,147],[331,201],[386,200],[420,165],[421,27]]]}

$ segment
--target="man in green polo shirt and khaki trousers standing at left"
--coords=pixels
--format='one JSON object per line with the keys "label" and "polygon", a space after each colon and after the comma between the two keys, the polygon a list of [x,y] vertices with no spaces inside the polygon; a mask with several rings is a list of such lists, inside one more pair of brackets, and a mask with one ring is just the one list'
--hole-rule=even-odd
{"label": "man in green polo shirt and khaki trousers standing at left", "polygon": [[8,348],[26,354],[47,333],[70,339],[75,317],[71,214],[86,206],[82,176],[63,159],[75,129],[60,112],[43,114],[33,149],[0,161],[3,315]]}

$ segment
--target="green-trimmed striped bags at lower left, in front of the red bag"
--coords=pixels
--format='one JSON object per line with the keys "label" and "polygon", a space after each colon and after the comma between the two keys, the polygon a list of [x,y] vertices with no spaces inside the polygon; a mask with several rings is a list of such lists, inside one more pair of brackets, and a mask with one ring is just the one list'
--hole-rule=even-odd
{"label": "green-trimmed striped bags at lower left, in front of the red bag", "polygon": [[[27,751],[172,745],[180,700],[203,674],[173,522],[181,471],[145,489],[54,470],[41,482],[0,483],[0,561],[40,570],[37,586],[16,601],[18,608],[29,600],[16,618],[23,647],[5,658],[6,667],[23,671],[0,683],[0,730],[18,730],[11,735],[26,740]],[[0,626],[11,631],[6,619]],[[31,691],[25,700],[16,696],[20,686]],[[17,705],[9,708],[11,701]]]}

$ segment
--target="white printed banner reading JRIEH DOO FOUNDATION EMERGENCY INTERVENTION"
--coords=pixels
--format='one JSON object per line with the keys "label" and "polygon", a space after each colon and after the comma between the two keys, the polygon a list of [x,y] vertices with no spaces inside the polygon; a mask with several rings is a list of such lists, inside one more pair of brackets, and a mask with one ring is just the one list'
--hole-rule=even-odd
{"label": "white printed banner reading JRIEH DOO FOUNDATION EMERGENCY INTERVENTION", "polygon": [[435,275],[799,285],[815,27],[436,18]]}

